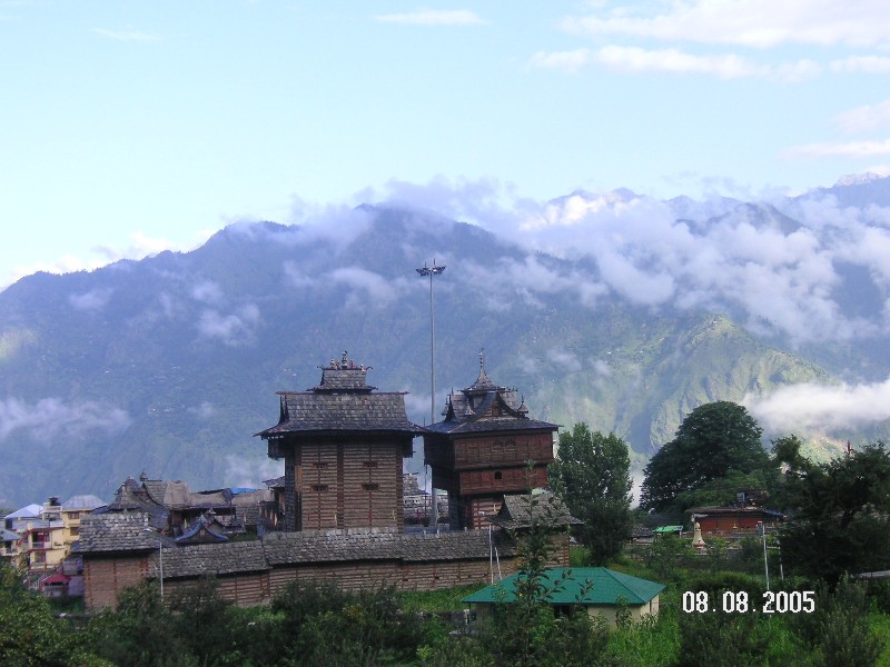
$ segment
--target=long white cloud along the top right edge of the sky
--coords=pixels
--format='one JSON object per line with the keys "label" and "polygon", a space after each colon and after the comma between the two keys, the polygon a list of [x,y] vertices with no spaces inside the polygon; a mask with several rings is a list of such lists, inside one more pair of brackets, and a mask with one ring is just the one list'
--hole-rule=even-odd
{"label": "long white cloud along the top right edge of the sky", "polygon": [[883,0],[689,0],[656,3],[645,14],[636,6],[568,17],[568,32],[662,41],[732,44],[758,49],[781,44],[878,47],[890,42]]}

